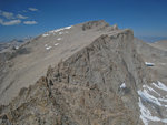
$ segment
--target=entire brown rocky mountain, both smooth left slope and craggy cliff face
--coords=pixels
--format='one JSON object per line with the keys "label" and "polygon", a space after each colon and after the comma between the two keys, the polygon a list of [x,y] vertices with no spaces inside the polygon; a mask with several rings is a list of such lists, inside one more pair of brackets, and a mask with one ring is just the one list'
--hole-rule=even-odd
{"label": "entire brown rocky mountain, both smooth left slope and craggy cliff face", "polygon": [[[165,124],[164,105],[144,93],[157,79],[135,41],[131,30],[90,21],[22,45],[1,63],[0,124]],[[147,117],[143,104],[160,118]]]}

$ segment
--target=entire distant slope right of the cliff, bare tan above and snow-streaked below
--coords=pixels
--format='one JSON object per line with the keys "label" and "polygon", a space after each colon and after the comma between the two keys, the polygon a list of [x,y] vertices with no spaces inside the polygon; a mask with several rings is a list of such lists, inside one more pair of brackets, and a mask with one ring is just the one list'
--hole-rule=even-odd
{"label": "entire distant slope right of the cliff, bare tan above and snow-streaked below", "polygon": [[145,125],[166,125],[167,51],[165,50],[165,44],[164,49],[161,49],[156,43],[148,44],[138,39],[134,39],[134,43],[143,60],[154,64],[148,66],[147,70],[155,82],[145,84],[141,90],[138,90],[140,117]]}

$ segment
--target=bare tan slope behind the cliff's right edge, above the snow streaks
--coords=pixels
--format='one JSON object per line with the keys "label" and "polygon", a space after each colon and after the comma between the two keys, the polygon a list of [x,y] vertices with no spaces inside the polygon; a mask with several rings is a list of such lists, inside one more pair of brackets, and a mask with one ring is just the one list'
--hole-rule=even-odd
{"label": "bare tan slope behind the cliff's right edge, above the snow streaks", "polygon": [[151,70],[150,74],[153,75],[153,79],[167,83],[167,46],[165,45],[165,42],[163,42],[164,49],[157,45],[158,42],[148,44],[139,39],[134,39],[134,43],[143,60],[145,62],[154,63],[154,66],[149,69]]}

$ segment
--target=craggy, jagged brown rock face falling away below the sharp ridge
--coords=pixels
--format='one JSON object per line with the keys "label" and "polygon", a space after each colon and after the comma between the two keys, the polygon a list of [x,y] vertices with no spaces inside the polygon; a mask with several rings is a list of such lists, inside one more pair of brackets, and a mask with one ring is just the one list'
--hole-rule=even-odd
{"label": "craggy, jagged brown rock face falling away below the sharp ridge", "polygon": [[46,76],[0,107],[0,124],[143,125],[137,90],[149,76],[132,41],[132,31],[115,30],[49,66]]}

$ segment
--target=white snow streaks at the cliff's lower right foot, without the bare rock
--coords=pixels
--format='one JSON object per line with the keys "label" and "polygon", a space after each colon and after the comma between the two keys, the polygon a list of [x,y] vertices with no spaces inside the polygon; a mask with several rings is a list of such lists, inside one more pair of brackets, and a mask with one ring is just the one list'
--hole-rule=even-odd
{"label": "white snow streaks at the cliff's lower right foot, without the bare rock", "polygon": [[[167,91],[167,86],[159,81],[157,82],[157,84],[153,83],[153,85],[155,87],[158,87],[159,90]],[[148,102],[150,104],[151,103],[156,104],[159,107],[167,107],[167,105],[161,104],[161,103],[167,103],[166,96],[161,96],[157,91],[155,91],[149,85],[143,85],[143,88],[144,88],[143,91],[141,90],[138,91],[138,95],[139,95],[138,105],[140,108],[140,113],[141,113],[140,118],[141,118],[143,123],[145,125],[148,125],[148,123],[151,121],[151,122],[161,122],[161,123],[167,124],[167,118],[160,118],[157,116],[153,116],[149,108],[147,108],[147,106],[143,103],[143,101],[144,101],[144,102]],[[156,93],[158,95],[158,97],[150,95],[149,92]],[[150,108],[151,108],[151,106],[150,106]]]}

